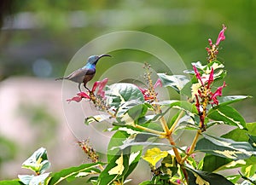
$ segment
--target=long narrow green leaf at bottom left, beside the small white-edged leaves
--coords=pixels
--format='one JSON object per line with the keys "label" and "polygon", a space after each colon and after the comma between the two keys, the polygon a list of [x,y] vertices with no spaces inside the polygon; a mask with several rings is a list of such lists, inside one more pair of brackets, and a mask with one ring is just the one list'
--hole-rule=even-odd
{"label": "long narrow green leaf at bottom left, beside the small white-edged leaves", "polygon": [[93,164],[84,164],[56,172],[50,178],[48,185],[55,185],[62,180],[70,177],[80,177],[81,173],[83,174],[83,176],[85,176],[85,174],[90,175],[94,173],[101,173],[101,171],[97,168],[99,165],[103,165],[103,163],[98,162]]}

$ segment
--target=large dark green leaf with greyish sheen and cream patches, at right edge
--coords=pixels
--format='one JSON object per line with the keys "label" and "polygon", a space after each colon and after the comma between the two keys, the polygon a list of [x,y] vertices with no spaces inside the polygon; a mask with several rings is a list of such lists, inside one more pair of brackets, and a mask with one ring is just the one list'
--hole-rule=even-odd
{"label": "large dark green leaf with greyish sheen and cream patches, at right edge", "polygon": [[248,142],[235,142],[217,136],[203,134],[196,144],[195,151],[210,153],[219,157],[238,160],[248,159],[253,154],[253,147]]}

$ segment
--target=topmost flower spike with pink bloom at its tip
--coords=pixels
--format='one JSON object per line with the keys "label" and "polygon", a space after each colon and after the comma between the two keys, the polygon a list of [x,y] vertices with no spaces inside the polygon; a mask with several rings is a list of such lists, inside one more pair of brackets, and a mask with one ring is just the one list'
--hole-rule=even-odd
{"label": "topmost flower spike with pink bloom at its tip", "polygon": [[223,25],[223,29],[219,32],[216,43],[212,43],[211,38],[208,39],[208,42],[210,45],[210,48],[207,47],[207,54],[208,54],[207,61],[208,62],[215,61],[217,59],[218,45],[221,41],[224,41],[224,39],[225,39],[224,32],[226,29],[227,29],[227,27]]}

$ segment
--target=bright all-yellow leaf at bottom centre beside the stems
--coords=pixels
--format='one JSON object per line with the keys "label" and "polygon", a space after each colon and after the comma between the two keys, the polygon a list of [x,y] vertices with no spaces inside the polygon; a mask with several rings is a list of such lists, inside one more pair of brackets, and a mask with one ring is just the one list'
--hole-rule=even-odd
{"label": "bright all-yellow leaf at bottom centre beside the stems", "polygon": [[144,154],[143,159],[146,160],[150,165],[155,165],[160,159],[165,158],[168,155],[166,151],[161,151],[158,147],[153,147],[148,149],[147,152]]}

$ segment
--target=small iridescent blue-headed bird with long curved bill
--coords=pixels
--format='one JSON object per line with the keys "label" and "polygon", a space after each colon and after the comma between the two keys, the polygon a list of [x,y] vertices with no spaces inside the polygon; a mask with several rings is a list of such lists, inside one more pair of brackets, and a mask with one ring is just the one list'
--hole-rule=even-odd
{"label": "small iridescent blue-headed bird with long curved bill", "polygon": [[85,66],[83,66],[82,68],[79,68],[78,70],[72,72],[67,77],[55,78],[55,80],[68,79],[68,80],[71,80],[75,83],[79,83],[80,92],[82,91],[81,90],[81,84],[84,84],[84,88],[86,90],[89,90],[89,88],[86,87],[86,84],[94,77],[94,75],[96,73],[96,64],[104,56],[110,56],[111,57],[111,55],[108,55],[108,54],[91,55],[88,58]]}

